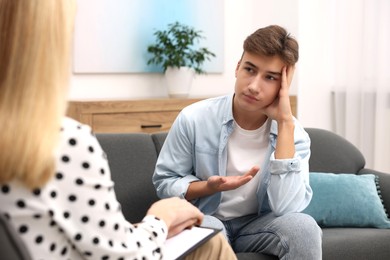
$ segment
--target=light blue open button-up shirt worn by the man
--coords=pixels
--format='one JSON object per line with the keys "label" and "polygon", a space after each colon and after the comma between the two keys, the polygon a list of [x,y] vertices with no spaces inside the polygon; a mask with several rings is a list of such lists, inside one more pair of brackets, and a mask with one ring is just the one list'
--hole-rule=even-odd
{"label": "light blue open button-up shirt worn by the man", "polygon": [[[153,184],[160,198],[184,198],[194,181],[226,176],[227,142],[233,131],[233,95],[206,99],[184,108],[173,123],[157,160]],[[312,197],[309,185],[310,138],[294,118],[295,155],[275,159],[277,122],[271,122],[269,147],[260,166],[256,192],[259,215],[272,210],[276,215],[300,212]],[[193,202],[204,214],[212,215],[221,193]]]}

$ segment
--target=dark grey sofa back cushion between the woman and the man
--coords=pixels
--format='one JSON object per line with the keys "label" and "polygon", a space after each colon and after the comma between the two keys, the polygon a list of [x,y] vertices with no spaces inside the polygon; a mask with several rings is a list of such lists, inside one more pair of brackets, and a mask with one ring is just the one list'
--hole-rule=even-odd
{"label": "dark grey sofa back cushion between the woman and the man", "polygon": [[106,152],[114,189],[123,214],[132,223],[158,200],[152,183],[157,153],[150,134],[96,134]]}

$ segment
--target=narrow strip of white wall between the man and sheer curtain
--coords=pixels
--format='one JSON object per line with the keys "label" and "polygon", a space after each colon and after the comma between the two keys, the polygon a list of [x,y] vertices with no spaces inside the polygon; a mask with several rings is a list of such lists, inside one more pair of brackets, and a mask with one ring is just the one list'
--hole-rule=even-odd
{"label": "narrow strip of white wall between the man and sheer curtain", "polygon": [[299,87],[298,118],[306,127],[332,129],[330,75],[331,37],[327,26],[331,22],[324,17],[326,1],[299,0]]}

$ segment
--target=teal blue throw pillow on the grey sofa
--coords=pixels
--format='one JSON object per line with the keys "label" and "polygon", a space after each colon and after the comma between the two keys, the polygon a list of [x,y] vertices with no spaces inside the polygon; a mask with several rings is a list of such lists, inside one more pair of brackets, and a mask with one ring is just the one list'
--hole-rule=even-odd
{"label": "teal blue throw pillow on the grey sofa", "polygon": [[310,173],[313,198],[303,211],[321,227],[390,228],[373,174]]}

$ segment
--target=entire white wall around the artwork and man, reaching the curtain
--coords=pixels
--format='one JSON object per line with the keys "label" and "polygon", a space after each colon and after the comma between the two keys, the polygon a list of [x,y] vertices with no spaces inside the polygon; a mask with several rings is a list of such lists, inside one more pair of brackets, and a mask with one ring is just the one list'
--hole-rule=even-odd
{"label": "entire white wall around the artwork and man, reaching the curtain", "polygon": [[[222,74],[198,75],[190,97],[210,97],[234,89],[234,70],[246,36],[270,24],[285,27],[300,44],[291,94],[298,95],[298,118],[310,127],[331,129],[330,79],[321,27],[321,1],[226,0],[225,67]],[[162,74],[73,74],[70,100],[139,99],[167,97]]]}

